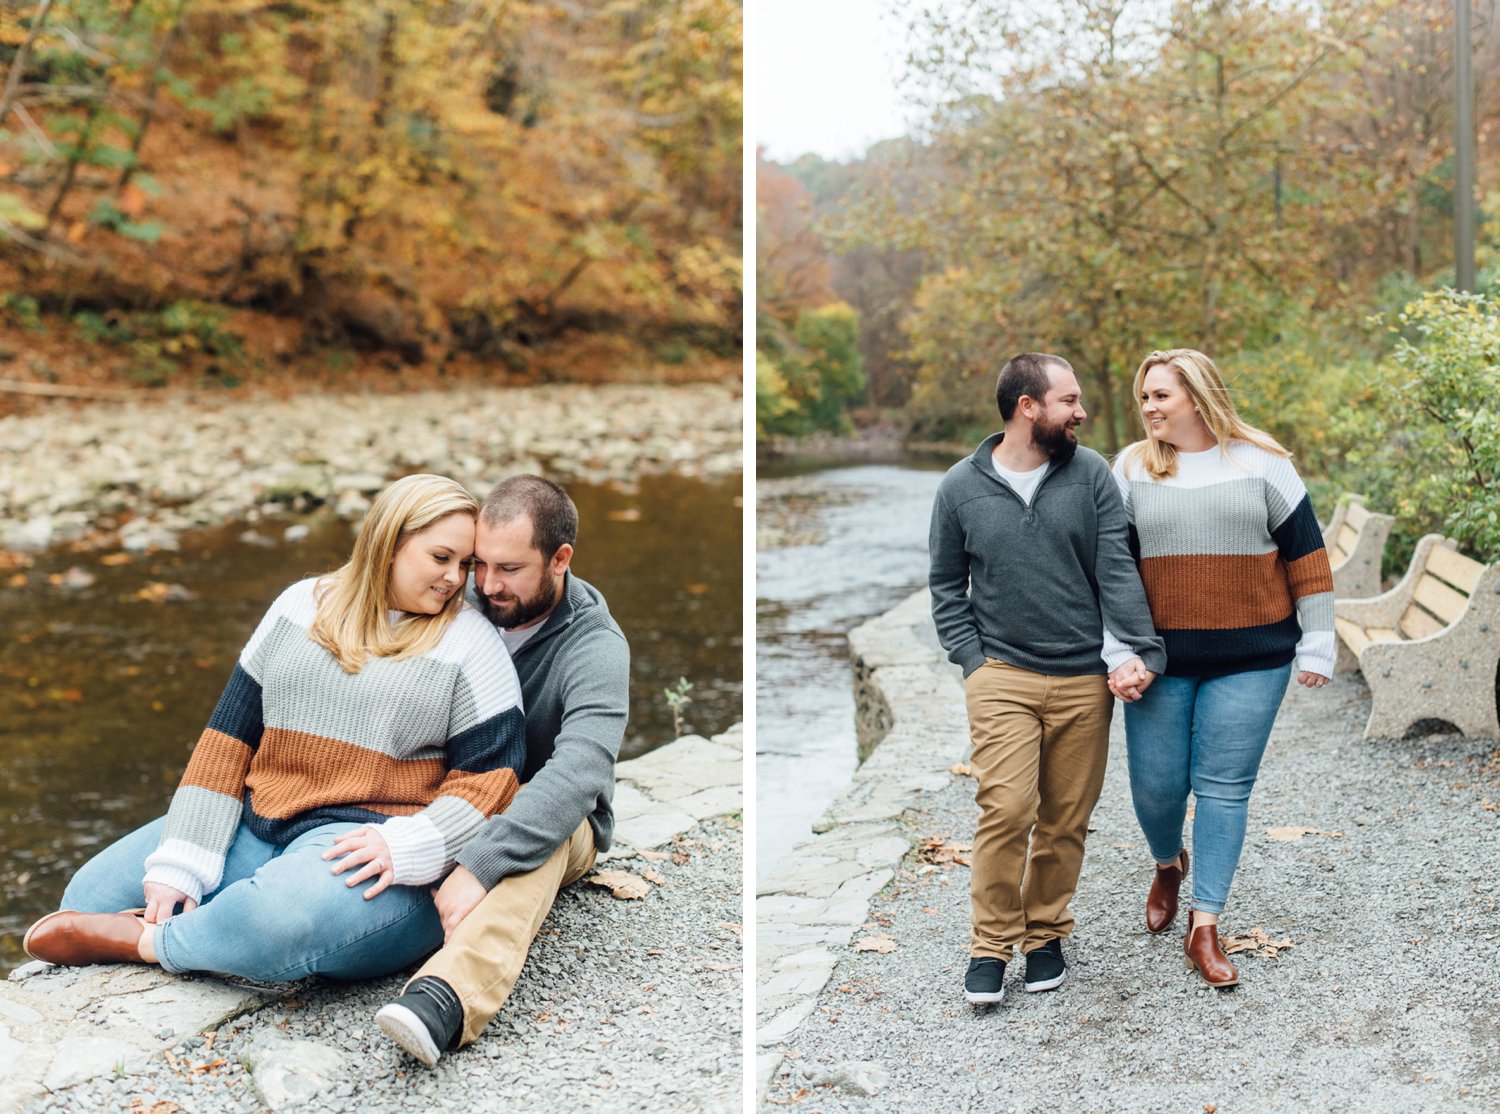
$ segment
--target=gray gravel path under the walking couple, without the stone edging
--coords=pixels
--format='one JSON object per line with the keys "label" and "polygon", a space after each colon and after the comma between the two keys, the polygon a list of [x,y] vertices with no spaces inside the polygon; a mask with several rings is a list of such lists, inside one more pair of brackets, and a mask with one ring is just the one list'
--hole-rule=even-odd
{"label": "gray gravel path under the walking couple, without the stone edging", "polygon": [[[1251,798],[1227,936],[1292,942],[1238,955],[1204,988],[1176,931],[1146,933],[1149,855],[1130,805],[1116,709],[1050,994],[1006,972],[996,1008],[963,1000],[969,871],[910,855],[788,1048],[768,1099],[807,1111],[1500,1110],[1500,750],[1456,735],[1360,741],[1359,679],[1293,687]],[[972,781],[908,813],[915,843],[974,835]],[[1276,841],[1268,829],[1314,829]],[[1185,883],[1185,886],[1190,883]],[[862,1092],[874,1090],[873,1098]]]}

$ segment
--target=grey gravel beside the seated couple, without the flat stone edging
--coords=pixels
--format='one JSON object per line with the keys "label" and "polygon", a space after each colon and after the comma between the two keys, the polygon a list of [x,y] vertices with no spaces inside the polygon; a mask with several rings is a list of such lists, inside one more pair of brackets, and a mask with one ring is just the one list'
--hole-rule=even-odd
{"label": "grey gravel beside the seated couple, without the flat stone edging", "polygon": [[76,1084],[27,1111],[260,1111],[267,1102],[243,1059],[286,1039],[342,1060],[332,1086],[300,1111],[738,1110],[741,837],[736,819],[712,820],[668,847],[675,858],[608,864],[662,877],[639,901],[590,885],[566,889],[500,1017],[434,1071],[374,1023],[402,976],[309,982],[225,1024],[212,1044],[189,1036],[141,1075]]}

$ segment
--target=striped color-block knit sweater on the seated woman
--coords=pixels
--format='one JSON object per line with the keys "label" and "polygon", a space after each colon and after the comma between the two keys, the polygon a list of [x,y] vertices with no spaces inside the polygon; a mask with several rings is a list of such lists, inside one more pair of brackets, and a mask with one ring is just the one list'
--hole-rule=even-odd
{"label": "striped color-block knit sweater on the seated woman", "polygon": [[282,592],[240,652],[146,882],[201,900],[242,822],[285,846],[339,820],[380,825],[399,885],[435,882],[516,795],[520,685],[489,621],[465,607],[428,654],[345,673],[309,633],[315,583]]}

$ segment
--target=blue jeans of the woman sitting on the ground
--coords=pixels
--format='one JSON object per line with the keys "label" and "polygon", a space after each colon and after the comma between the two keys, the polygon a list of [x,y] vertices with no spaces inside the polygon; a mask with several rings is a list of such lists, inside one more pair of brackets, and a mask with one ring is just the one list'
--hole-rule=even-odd
{"label": "blue jeans of the woman sitting on the ground", "polygon": [[[146,856],[166,817],[130,832],[82,865],[63,892],[63,909],[117,913],[146,904]],[[308,975],[369,979],[406,967],[442,943],[442,924],[426,886],[390,886],[366,901],[372,880],[346,886],[322,852],[356,823],[328,823],[284,847],[243,823],[224,862],[219,888],[202,904],[154,927],[158,961],[170,972],[216,972],[258,982]]]}

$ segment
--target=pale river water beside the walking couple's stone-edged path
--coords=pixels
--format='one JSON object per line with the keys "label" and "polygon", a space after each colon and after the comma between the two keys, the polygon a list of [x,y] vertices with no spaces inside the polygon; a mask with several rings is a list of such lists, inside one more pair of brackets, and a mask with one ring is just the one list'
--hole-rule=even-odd
{"label": "pale river water beside the walking couple's stone-edged path", "polygon": [[756,871],[810,834],[858,765],[849,631],[927,582],[948,460],[756,477]]}

